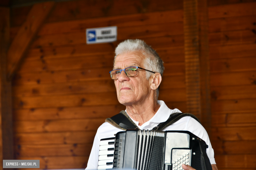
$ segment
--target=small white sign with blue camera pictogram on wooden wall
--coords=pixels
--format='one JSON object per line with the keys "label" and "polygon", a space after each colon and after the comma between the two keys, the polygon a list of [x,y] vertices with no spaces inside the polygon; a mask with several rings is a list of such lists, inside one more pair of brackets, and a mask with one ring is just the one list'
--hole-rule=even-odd
{"label": "small white sign with blue camera pictogram on wooden wall", "polygon": [[87,28],[86,43],[105,43],[117,41],[117,26]]}

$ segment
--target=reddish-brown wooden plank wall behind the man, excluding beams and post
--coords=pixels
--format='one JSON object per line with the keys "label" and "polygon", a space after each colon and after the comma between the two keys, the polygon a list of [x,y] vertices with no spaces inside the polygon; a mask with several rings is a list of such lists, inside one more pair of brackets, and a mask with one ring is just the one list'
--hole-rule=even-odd
{"label": "reddish-brown wooden plank wall behind the man, excluding beams and post", "polygon": [[[242,2],[208,1],[211,140],[220,170],[256,168],[256,2]],[[30,9],[11,9],[11,39]],[[108,72],[125,39],[157,50],[165,66],[159,99],[186,112],[182,17],[181,0],[55,3],[13,79],[16,159],[39,159],[41,169],[86,167],[97,127],[124,109]],[[86,28],[114,25],[117,42],[86,44]]]}

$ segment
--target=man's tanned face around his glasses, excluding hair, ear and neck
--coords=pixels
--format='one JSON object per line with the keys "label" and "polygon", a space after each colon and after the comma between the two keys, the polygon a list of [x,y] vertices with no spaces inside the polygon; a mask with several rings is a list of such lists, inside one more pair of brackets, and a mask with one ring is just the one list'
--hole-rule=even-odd
{"label": "man's tanned face around his glasses, excluding hair, ear and neck", "polygon": [[[131,66],[144,68],[145,57],[141,52],[129,52],[116,57],[114,69],[125,69]],[[146,71],[138,69],[138,74],[134,77],[127,77],[124,71],[115,80],[118,101],[127,106],[139,104],[149,97],[150,81],[146,78]]]}

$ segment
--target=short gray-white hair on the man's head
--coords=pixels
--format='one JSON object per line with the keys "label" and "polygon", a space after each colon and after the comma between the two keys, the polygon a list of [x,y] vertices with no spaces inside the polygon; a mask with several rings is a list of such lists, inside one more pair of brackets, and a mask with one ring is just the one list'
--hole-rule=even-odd
{"label": "short gray-white hair on the man's head", "polygon": [[[143,40],[136,39],[120,42],[115,50],[116,56],[114,59],[114,63],[117,55],[133,51],[140,51],[146,57],[146,59],[144,60],[145,69],[160,73],[160,75],[163,76],[163,60],[159,57],[156,50],[154,50],[150,45],[146,44]],[[149,79],[152,74],[153,73],[147,71],[146,78]],[[157,98],[159,95],[159,88],[160,86],[157,89]]]}

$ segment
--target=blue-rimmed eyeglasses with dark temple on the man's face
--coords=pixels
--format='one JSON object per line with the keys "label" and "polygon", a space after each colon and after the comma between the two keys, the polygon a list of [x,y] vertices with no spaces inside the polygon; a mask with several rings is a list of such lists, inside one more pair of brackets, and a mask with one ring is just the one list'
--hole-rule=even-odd
{"label": "blue-rimmed eyeglasses with dark temple on the man's face", "polygon": [[[140,68],[140,67],[127,67],[123,70],[121,70],[121,69],[112,70],[109,73],[110,73],[111,78],[113,80],[116,80],[116,79],[118,79],[118,77],[119,77],[119,75],[121,74],[122,71],[124,71],[124,73],[126,74],[127,77],[136,76],[137,73],[138,73],[138,68],[142,69],[142,70],[146,70],[146,69]],[[146,71],[149,71],[149,70],[146,70]],[[153,71],[149,71],[149,72],[155,73]]]}

